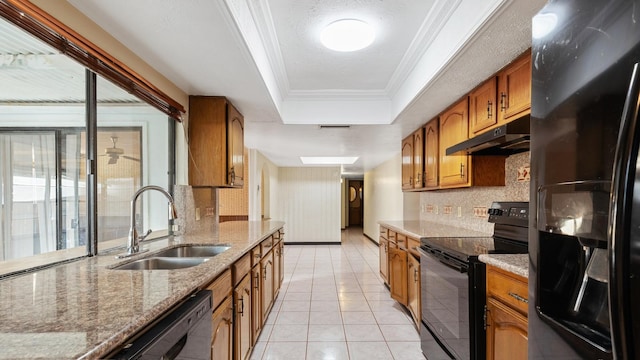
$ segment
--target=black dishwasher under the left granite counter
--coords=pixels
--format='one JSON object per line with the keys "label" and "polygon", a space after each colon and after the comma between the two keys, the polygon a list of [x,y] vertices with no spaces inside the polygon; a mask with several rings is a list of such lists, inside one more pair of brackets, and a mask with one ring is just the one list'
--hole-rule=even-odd
{"label": "black dishwasher under the left granite counter", "polygon": [[210,359],[211,291],[190,296],[112,352],[109,359]]}

